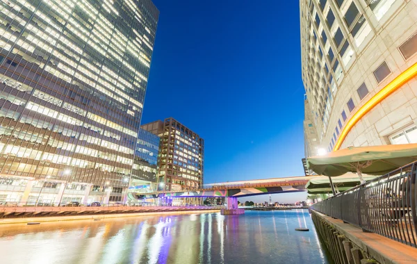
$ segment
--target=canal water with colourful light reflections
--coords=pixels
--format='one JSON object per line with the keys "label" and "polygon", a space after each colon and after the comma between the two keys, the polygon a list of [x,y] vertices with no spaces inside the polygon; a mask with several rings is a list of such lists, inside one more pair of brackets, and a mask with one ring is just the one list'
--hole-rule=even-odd
{"label": "canal water with colourful light reflections", "polygon": [[[296,227],[310,229],[295,231]],[[0,263],[332,263],[306,210],[0,224]]]}

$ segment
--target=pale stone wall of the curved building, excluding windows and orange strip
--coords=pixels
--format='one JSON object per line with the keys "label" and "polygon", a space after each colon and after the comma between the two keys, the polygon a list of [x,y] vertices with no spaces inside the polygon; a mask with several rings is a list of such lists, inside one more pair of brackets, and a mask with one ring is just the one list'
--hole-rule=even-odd
{"label": "pale stone wall of the curved building, excluding windows and orange strip", "polygon": [[[312,15],[310,2],[314,5]],[[320,8],[320,2],[326,2],[323,10]],[[366,19],[366,23],[361,26],[355,38],[349,33],[352,28],[349,29],[343,19],[352,2],[359,10],[359,16],[363,15]],[[371,10],[365,0],[344,0],[340,7],[336,0],[300,0],[303,81],[311,110],[319,115],[317,121],[318,133],[322,131],[322,138],[319,135],[320,145],[328,150],[334,148],[334,142],[338,139],[339,135],[336,133],[336,127],[340,134],[350,117],[363,104],[366,104],[370,98],[404,72],[405,69],[417,63],[417,53],[406,60],[398,49],[407,39],[417,33],[417,0],[382,0],[381,2],[382,4],[391,3],[391,6],[382,17],[379,15],[378,19],[375,10]],[[328,28],[326,23],[329,8],[335,16],[332,28]],[[306,14],[309,14],[309,16],[306,16]],[[320,26],[318,27],[315,24],[316,14],[320,18]],[[344,57],[336,53],[337,46],[333,38],[337,28],[341,29],[344,39],[350,44]],[[319,37],[322,32],[327,35],[325,45]],[[305,36],[306,34],[312,36],[313,33],[316,33],[317,42],[314,41],[313,37],[308,40],[308,37]],[[318,55],[318,47],[324,54],[323,58]],[[318,97],[318,94],[323,94],[323,90],[325,91],[327,86],[331,87],[331,84],[328,79],[325,84],[318,83],[317,85],[315,82],[321,79],[321,76],[325,76],[325,63],[327,63],[329,72],[332,72],[333,79],[337,79],[336,73],[332,71],[332,63],[328,58],[325,58],[325,53],[329,47],[334,51],[334,56],[338,60],[339,68],[341,67],[343,73],[335,82],[337,92],[332,98],[332,106],[327,108],[329,118],[326,126],[325,122],[321,120],[321,111],[318,110],[320,100],[317,99],[324,99],[321,100],[321,104],[326,104],[326,101],[329,101],[327,97]],[[346,57],[349,54],[352,55],[350,59]],[[317,60],[321,69],[317,68]],[[377,83],[373,72],[384,61],[391,69],[391,74]],[[309,67],[309,65],[315,67]],[[312,69],[318,74],[311,74]],[[319,78],[317,78],[317,75]],[[360,99],[357,89],[363,82],[366,84],[369,93],[366,97]],[[316,97],[316,104],[314,103],[314,97]],[[351,98],[355,105],[352,112],[347,107],[347,101]],[[345,122],[341,117],[343,110],[347,115]],[[339,119],[342,121],[342,127],[338,125]],[[362,117],[347,134],[341,148],[390,144],[389,138],[391,135],[413,124],[417,124],[417,78],[404,84]],[[334,135],[336,135],[336,140]]]}

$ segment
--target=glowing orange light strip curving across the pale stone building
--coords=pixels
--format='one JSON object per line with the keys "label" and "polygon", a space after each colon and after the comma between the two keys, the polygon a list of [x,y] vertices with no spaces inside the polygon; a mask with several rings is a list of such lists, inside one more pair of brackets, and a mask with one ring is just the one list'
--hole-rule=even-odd
{"label": "glowing orange light strip curving across the pale stone building", "polygon": [[369,99],[369,101],[367,101],[361,108],[359,108],[357,113],[354,113],[352,118],[350,118],[346,126],[343,128],[341,136],[338,138],[336,145],[334,145],[333,151],[340,149],[343,141],[347,136],[347,133],[350,132],[353,126],[357,124],[363,115],[369,113],[369,111],[372,110],[377,104],[386,99],[386,97],[389,97],[390,94],[398,90],[398,88],[404,85],[404,83],[407,83],[407,81],[411,80],[415,76],[417,76],[417,63],[398,75],[397,78],[393,79],[391,83],[382,88],[382,90],[377,92],[377,94],[375,94],[371,99]]}

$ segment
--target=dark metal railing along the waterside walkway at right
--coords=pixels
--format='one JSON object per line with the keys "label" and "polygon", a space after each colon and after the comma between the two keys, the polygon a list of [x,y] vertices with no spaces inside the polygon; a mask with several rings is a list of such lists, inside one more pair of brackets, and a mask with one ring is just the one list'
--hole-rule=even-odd
{"label": "dark metal railing along the waterside walkway at right", "polygon": [[311,206],[364,231],[417,247],[417,162]]}

